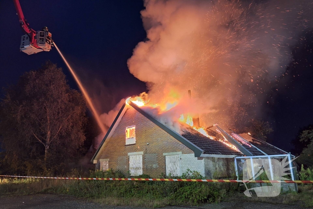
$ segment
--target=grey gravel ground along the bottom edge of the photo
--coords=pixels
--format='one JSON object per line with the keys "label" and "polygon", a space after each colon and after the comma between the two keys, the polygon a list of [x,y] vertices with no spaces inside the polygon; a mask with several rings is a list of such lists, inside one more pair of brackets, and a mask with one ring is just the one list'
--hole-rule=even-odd
{"label": "grey gravel ground along the bottom edge of the photo", "polygon": [[[26,196],[1,196],[0,197],[0,208],[3,209],[57,209],[57,208],[101,208],[101,209],[126,209],[132,208],[129,206],[104,206],[98,203],[88,201],[85,198],[76,198],[72,196],[60,196],[60,195],[50,195],[50,194],[36,194],[36,195],[26,195]],[[293,209],[299,208],[298,205],[275,205],[260,202],[220,202],[218,204],[207,204],[197,207],[182,207],[182,206],[167,206],[163,209],[191,209],[191,208],[201,208],[201,209]],[[139,209],[139,208],[132,208]],[[144,208],[140,208],[144,209]]]}

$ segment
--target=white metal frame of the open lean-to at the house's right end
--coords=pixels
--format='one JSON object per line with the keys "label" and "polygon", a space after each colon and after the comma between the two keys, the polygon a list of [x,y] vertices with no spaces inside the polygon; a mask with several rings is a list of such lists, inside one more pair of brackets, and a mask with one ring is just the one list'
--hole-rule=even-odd
{"label": "white metal frame of the open lean-to at the house's right end", "polygon": [[293,172],[293,167],[292,167],[292,163],[291,163],[291,154],[275,154],[275,155],[260,155],[260,156],[243,156],[243,157],[235,157],[234,161],[235,161],[235,171],[236,171],[236,176],[237,176],[237,180],[239,180],[239,176],[238,176],[238,166],[237,166],[237,159],[242,159],[242,158],[246,158],[246,159],[250,159],[251,160],[251,170],[252,170],[252,176],[253,176],[253,180],[255,180],[254,178],[254,167],[253,167],[253,160],[252,158],[268,158],[269,160],[269,169],[270,169],[270,174],[271,174],[271,180],[274,180],[274,176],[273,176],[273,168],[272,168],[272,164],[271,164],[271,157],[277,157],[277,158],[285,158],[288,156],[288,161],[289,161],[289,168],[290,168],[290,175],[291,175],[291,180],[295,180],[295,174]]}

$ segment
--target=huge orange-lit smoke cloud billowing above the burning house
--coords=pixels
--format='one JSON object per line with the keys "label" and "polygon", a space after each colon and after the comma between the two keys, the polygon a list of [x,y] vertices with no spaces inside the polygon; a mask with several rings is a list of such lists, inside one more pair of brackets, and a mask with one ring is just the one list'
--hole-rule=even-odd
{"label": "huge orange-lit smoke cloud billowing above the burning house", "polygon": [[130,72],[146,82],[151,103],[186,101],[192,90],[191,114],[200,113],[205,126],[239,127],[257,116],[312,25],[312,4],[305,0],[144,5],[148,40],[134,49]]}

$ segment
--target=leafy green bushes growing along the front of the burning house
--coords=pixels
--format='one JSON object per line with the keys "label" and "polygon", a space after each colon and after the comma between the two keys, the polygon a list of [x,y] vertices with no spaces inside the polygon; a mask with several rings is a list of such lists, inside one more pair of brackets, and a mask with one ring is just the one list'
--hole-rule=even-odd
{"label": "leafy green bushes growing along the front of the burning house", "polygon": [[[125,178],[119,171],[96,170],[90,173],[91,178]],[[136,178],[151,178],[140,175]],[[204,179],[197,171],[187,170],[177,178]],[[150,200],[167,199],[172,204],[197,205],[203,202],[216,202],[220,199],[217,185],[209,182],[186,181],[127,181],[127,180],[90,180],[70,181],[55,192],[92,198],[121,197]]]}

